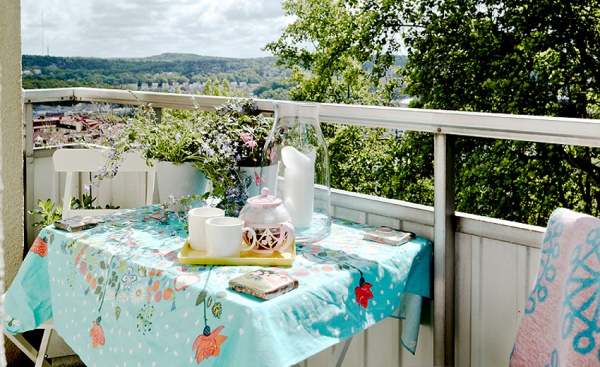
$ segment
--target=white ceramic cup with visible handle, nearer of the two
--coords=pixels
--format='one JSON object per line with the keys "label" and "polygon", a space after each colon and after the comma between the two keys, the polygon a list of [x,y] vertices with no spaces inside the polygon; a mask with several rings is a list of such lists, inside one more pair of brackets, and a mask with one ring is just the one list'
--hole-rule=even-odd
{"label": "white ceramic cup with visible handle, nearer of the two", "polygon": [[[251,239],[250,246],[242,244],[242,233],[245,232],[248,232],[246,237]],[[206,220],[206,257],[239,257],[240,251],[251,250],[256,245],[256,232],[244,227],[242,219],[220,217]]]}

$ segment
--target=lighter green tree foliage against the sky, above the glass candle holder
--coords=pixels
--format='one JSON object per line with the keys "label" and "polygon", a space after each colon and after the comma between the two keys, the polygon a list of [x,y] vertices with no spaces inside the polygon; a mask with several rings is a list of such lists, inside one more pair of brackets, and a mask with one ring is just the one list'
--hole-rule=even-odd
{"label": "lighter green tree foliage against the sky, above the glass candle holder", "polygon": [[[295,17],[276,42],[265,46],[291,70],[293,100],[386,104],[397,79],[389,78],[399,50],[394,38],[384,54],[373,58],[372,27],[381,22],[373,1],[287,0],[286,15]],[[389,3],[389,2],[386,2]],[[392,5],[395,6],[395,5]]]}

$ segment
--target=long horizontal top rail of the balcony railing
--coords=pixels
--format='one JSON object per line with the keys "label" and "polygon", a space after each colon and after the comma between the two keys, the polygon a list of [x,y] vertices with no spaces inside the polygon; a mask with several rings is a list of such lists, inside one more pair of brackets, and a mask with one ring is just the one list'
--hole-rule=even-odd
{"label": "long horizontal top rail of the balcony railing", "polygon": [[[119,104],[137,104],[139,100],[152,103],[154,107],[214,110],[215,106],[223,104],[229,97],[96,88],[61,88],[26,90],[23,99],[26,103],[73,99],[81,102]],[[255,99],[255,101],[260,111],[267,115],[273,113],[276,101],[266,99]],[[591,119],[329,103],[321,104],[319,111],[323,122],[600,147],[600,121]]]}

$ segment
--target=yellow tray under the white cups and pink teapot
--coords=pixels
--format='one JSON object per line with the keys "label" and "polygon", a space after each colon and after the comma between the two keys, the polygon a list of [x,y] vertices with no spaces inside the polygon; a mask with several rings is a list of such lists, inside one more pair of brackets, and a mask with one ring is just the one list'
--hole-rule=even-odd
{"label": "yellow tray under the white cups and pink teapot", "polygon": [[177,254],[177,259],[182,264],[202,265],[276,265],[292,266],[296,258],[296,242],[283,252],[274,252],[270,255],[257,254],[256,252],[241,252],[239,257],[206,257],[206,251],[194,250],[189,241]]}

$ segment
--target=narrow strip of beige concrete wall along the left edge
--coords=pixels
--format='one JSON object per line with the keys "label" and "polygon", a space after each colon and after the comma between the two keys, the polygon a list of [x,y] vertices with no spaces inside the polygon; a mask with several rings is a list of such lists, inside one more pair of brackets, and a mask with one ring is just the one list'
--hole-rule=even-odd
{"label": "narrow strip of beige concrete wall along the left edge", "polygon": [[[21,100],[21,2],[0,1],[0,176],[4,286],[7,288],[23,259],[23,148]],[[21,354],[6,345],[8,365]]]}

